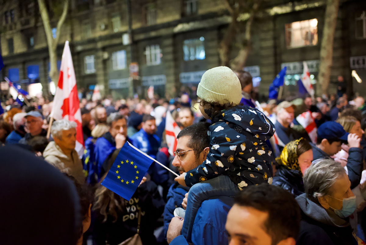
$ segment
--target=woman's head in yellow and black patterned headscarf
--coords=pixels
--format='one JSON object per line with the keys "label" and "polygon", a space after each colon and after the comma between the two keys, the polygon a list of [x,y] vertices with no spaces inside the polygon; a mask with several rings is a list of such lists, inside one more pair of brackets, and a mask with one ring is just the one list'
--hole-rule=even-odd
{"label": "woman's head in yellow and black patterned headscarf", "polygon": [[313,161],[313,150],[306,139],[296,139],[285,145],[276,161],[279,165],[304,174]]}

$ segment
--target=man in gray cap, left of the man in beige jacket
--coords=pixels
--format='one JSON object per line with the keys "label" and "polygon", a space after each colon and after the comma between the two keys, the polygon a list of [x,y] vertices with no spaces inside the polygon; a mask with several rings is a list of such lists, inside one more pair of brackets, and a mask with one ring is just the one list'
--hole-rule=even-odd
{"label": "man in gray cap, left of the man in beige jacket", "polygon": [[47,131],[42,128],[43,118],[42,114],[39,111],[29,111],[25,116],[26,120],[26,128],[28,129],[28,133],[19,140],[20,144],[27,145],[30,139],[33,139],[35,136],[46,136]]}

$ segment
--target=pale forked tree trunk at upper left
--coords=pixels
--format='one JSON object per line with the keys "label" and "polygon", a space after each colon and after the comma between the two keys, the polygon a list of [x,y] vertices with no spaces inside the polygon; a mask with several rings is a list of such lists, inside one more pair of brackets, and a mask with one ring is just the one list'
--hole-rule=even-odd
{"label": "pale forked tree trunk at upper left", "polygon": [[57,83],[59,80],[59,74],[57,71],[57,44],[60,39],[60,29],[66,19],[69,1],[70,0],[64,1],[61,17],[60,17],[59,21],[57,22],[56,38],[53,39],[51,23],[49,20],[49,14],[48,14],[45,2],[44,2],[44,0],[38,0],[38,6],[40,8],[40,14],[42,17],[42,22],[43,22],[43,26],[45,28],[46,39],[47,39],[49,67],[50,67],[49,77],[51,77],[51,80],[56,84],[56,86],[57,86]]}

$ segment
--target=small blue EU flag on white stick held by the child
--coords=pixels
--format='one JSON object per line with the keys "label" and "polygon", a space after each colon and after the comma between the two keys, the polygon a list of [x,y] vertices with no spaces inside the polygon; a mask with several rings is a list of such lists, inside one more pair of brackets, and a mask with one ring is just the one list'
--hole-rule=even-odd
{"label": "small blue EU flag on white stick held by the child", "polygon": [[102,186],[130,200],[153,160],[128,141],[119,151]]}

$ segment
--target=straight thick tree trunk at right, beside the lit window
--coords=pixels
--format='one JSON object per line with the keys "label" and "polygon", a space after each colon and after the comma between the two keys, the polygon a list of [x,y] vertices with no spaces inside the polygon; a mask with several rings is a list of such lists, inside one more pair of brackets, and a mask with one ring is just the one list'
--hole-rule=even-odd
{"label": "straight thick tree trunk at right, beside the lit window", "polygon": [[[339,0],[327,0],[324,16],[324,29],[320,49],[320,67],[318,81],[321,85],[321,93],[327,94],[330,79],[330,69],[333,58],[333,42],[336,30]],[[320,95],[320,89],[317,94]]]}

